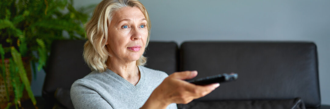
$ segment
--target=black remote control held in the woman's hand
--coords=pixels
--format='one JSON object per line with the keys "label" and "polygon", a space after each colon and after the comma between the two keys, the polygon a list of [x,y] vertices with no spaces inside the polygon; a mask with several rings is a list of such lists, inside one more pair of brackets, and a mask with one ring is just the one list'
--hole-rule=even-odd
{"label": "black remote control held in the woman's hand", "polygon": [[235,81],[238,78],[237,73],[230,73],[230,74],[219,74],[219,75],[214,75],[206,78],[200,78],[196,80],[191,80],[188,81],[190,83],[196,84],[196,85],[208,85],[212,83],[221,83],[221,82],[231,82]]}

